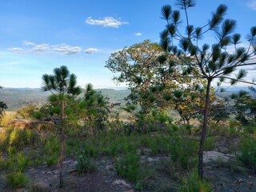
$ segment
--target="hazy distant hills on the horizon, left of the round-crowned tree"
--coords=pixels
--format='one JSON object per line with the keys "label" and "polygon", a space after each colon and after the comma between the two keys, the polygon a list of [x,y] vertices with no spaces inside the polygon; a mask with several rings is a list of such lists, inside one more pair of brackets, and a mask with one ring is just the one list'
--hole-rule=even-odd
{"label": "hazy distant hills on the horizon, left of the round-crowned tree", "polygon": [[[110,98],[110,102],[125,102],[130,94],[130,90],[114,90],[114,89],[95,89],[102,91],[105,97]],[[39,88],[4,88],[0,90],[0,101],[6,102],[8,110],[18,110],[22,106],[29,103],[42,104],[45,103],[50,92],[43,92]]]}

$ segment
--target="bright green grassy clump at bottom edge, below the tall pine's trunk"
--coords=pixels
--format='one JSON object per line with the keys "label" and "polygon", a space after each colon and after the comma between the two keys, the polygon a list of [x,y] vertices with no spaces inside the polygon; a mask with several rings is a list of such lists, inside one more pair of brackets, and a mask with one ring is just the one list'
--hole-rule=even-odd
{"label": "bright green grassy clump at bottom edge, below the tall pine's trunk", "polygon": [[212,191],[212,186],[210,182],[206,180],[201,180],[198,177],[196,171],[191,172],[186,178],[182,179],[182,184],[179,187],[179,191],[181,192],[210,192]]}

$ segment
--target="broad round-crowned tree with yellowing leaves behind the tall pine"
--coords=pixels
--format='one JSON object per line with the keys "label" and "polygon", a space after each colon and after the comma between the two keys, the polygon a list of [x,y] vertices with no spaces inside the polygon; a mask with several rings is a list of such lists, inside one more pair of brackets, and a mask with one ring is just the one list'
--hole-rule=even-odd
{"label": "broad round-crowned tree with yellowing leaves behind the tall pine", "polygon": [[186,97],[185,94],[181,95],[181,98],[175,93],[178,90],[190,92],[194,87],[202,86],[203,81],[201,78],[183,76],[182,67],[174,66],[176,58],[162,53],[161,46],[146,40],[111,54],[106,67],[118,74],[114,76],[115,82],[126,82],[129,86],[131,94],[126,99],[132,102],[132,106],[141,107],[140,114],[148,114],[152,108],[166,110],[171,106],[189,121],[193,115],[188,111],[194,110],[191,107],[195,105],[191,103],[196,97],[192,96],[193,99],[189,100],[186,99],[189,98],[188,94]]}

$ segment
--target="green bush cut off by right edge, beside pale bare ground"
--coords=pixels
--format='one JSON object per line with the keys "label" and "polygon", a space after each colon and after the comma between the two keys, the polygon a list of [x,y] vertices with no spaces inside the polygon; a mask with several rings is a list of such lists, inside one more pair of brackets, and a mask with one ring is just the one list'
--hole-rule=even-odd
{"label": "green bush cut off by right edge, beside pale bare ground", "polygon": [[254,173],[256,173],[256,140],[246,138],[240,143],[240,152],[238,158]]}

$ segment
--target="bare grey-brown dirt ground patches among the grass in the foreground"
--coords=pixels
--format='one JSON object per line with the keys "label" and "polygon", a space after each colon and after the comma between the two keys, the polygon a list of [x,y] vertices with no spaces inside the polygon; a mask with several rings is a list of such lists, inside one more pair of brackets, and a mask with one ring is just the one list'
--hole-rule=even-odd
{"label": "bare grey-brown dirt ground patches among the grass in the foreground", "polygon": [[[232,156],[229,146],[234,140],[229,141],[227,138],[221,138],[218,147],[214,149],[213,154],[222,154],[223,157]],[[218,153],[217,153],[218,152]],[[223,158],[224,159],[224,158]],[[150,191],[177,191],[178,183],[170,180],[170,173],[166,171],[169,158],[167,156],[145,155],[141,158],[142,162],[147,162],[149,166],[158,167],[158,174],[154,175],[154,181],[162,182],[167,188],[159,188],[156,186]],[[34,166],[26,169],[25,174],[30,177],[33,188],[7,190],[4,186],[3,175],[0,174],[0,191],[88,191],[88,192],[135,192],[134,185],[116,174],[114,170],[114,159],[110,157],[102,157],[96,160],[97,171],[91,174],[78,174],[75,171],[76,161],[67,159],[64,162],[64,186],[62,189],[58,187],[58,166],[47,167]],[[165,164],[166,163],[166,164]],[[219,157],[217,160],[210,159],[205,163],[204,170],[206,178],[213,184],[215,192],[253,192],[256,191],[256,175],[250,170],[243,169],[234,171],[230,169],[230,165],[222,162]],[[234,167],[236,168],[236,167]],[[236,169],[239,170],[239,169]],[[157,184],[157,183],[155,183]],[[154,190],[153,190],[154,189]],[[169,189],[169,190],[166,190]]]}

